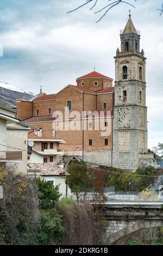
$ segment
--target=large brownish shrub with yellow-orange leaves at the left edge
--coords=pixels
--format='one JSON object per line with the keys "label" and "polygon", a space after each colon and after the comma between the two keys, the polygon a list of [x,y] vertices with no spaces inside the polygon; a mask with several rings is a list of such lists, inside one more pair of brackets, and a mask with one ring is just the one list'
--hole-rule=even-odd
{"label": "large brownish shrub with yellow-orange leaves at the left edge", "polygon": [[0,201],[0,243],[24,245],[24,233],[35,234],[39,223],[37,184],[11,167],[1,167],[0,183],[4,190]]}

